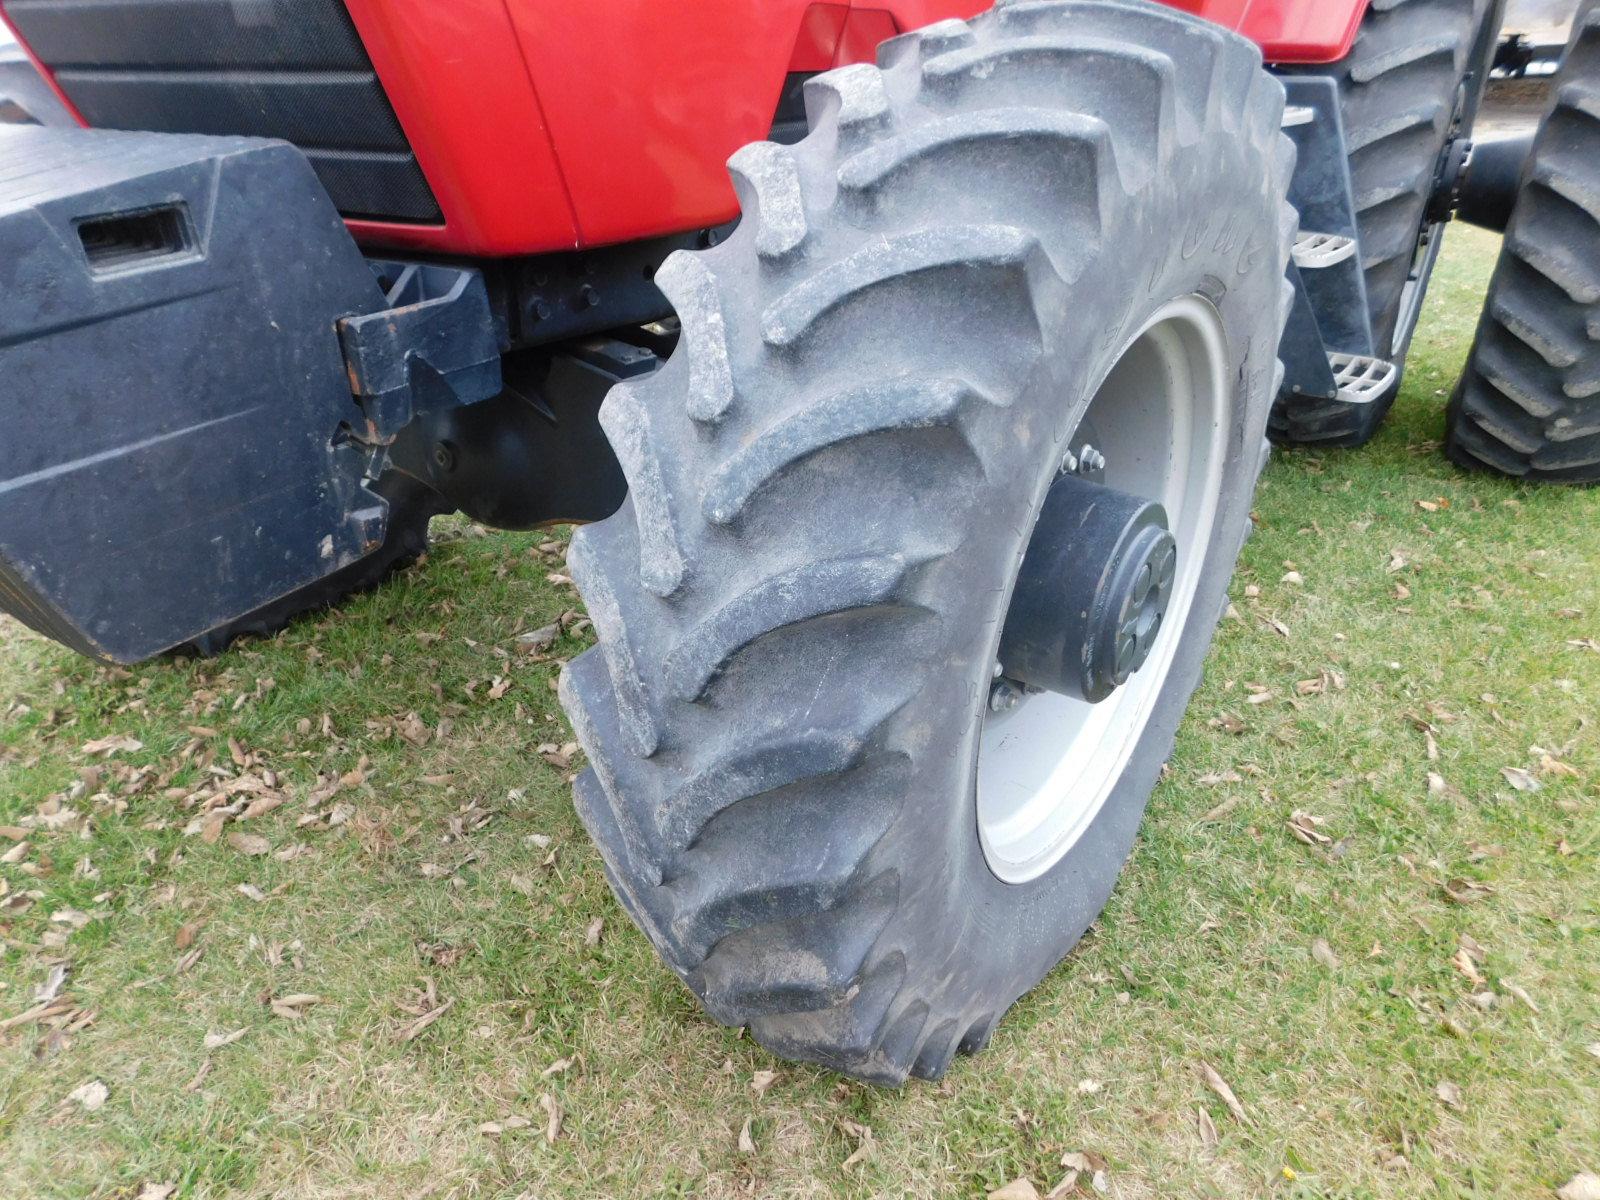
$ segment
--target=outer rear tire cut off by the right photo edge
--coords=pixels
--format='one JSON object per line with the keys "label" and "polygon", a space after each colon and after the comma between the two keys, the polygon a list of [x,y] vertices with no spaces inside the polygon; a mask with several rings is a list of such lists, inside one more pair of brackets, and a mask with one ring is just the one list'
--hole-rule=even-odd
{"label": "outer rear tire cut off by the right photo edge", "polygon": [[1515,478],[1600,483],[1600,5],[1574,26],[1445,450]]}

